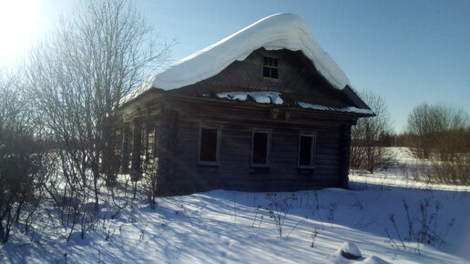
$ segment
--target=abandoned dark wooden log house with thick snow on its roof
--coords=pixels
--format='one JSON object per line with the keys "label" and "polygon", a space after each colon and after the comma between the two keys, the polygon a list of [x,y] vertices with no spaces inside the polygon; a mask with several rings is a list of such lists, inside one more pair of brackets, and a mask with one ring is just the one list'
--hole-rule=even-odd
{"label": "abandoned dark wooden log house with thick snow on its roof", "polygon": [[120,172],[158,195],[347,187],[351,127],[373,111],[297,15],[271,15],[121,100]]}

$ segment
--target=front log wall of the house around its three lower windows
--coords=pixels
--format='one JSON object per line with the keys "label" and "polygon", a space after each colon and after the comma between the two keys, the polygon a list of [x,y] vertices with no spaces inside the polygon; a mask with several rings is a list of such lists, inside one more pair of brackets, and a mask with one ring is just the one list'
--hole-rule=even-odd
{"label": "front log wall of the house around its three lower windows", "polygon": [[[214,124],[221,128],[220,165],[198,164],[199,125]],[[342,186],[346,154],[344,127],[295,127],[288,124],[261,126],[258,122],[220,122],[186,116],[179,119],[172,160],[175,170],[161,195],[185,194],[215,188],[247,191],[293,191]],[[253,128],[269,128],[271,164],[253,168],[250,164]],[[298,168],[299,135],[317,132],[314,169]],[[161,157],[160,157],[161,158]],[[348,156],[349,158],[349,156]],[[160,170],[164,172],[166,170]],[[170,175],[165,172],[162,175]],[[347,171],[346,171],[347,176]]]}

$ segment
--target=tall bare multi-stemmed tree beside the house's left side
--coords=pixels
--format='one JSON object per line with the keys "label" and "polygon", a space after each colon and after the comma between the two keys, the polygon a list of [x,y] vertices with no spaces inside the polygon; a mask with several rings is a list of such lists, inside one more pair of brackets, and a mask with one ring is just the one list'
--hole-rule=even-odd
{"label": "tall bare multi-stemmed tree beside the house's left side", "polygon": [[92,197],[97,210],[100,178],[116,181],[110,163],[119,100],[166,62],[171,44],[158,43],[133,2],[90,0],[76,10],[36,46],[26,75],[61,160],[65,184],[54,195]]}

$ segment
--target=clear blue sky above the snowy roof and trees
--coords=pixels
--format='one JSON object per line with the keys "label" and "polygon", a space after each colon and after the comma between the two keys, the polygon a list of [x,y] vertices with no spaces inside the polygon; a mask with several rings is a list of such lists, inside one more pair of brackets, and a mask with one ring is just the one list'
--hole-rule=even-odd
{"label": "clear blue sky above the snowy roof and trees", "polygon": [[[35,37],[73,4],[30,1],[41,4],[37,18],[41,26],[29,33]],[[160,36],[179,38],[173,60],[262,17],[289,12],[307,22],[354,88],[384,97],[396,132],[404,130],[409,112],[423,102],[444,102],[470,112],[470,1],[142,0],[137,4]],[[0,52],[0,66],[16,59],[11,54]]]}

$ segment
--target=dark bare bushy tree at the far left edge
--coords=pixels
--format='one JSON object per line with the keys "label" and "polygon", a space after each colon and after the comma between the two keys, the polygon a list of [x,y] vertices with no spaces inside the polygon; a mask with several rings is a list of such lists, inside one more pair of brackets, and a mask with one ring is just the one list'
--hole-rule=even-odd
{"label": "dark bare bushy tree at the far left edge", "polygon": [[15,222],[26,232],[40,200],[44,179],[44,138],[17,75],[0,73],[0,239],[8,241]]}

